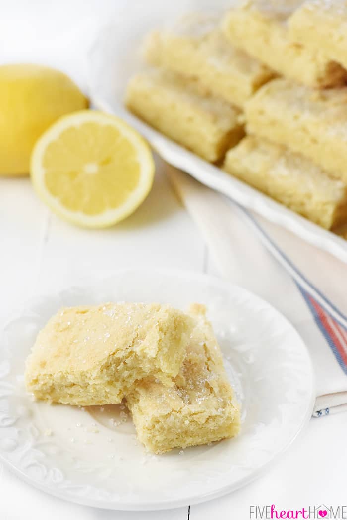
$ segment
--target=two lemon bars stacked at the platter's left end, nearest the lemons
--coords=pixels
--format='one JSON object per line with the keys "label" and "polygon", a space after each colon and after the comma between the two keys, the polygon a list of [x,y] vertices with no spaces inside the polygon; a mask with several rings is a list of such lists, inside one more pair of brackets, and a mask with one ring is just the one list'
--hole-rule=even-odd
{"label": "two lemon bars stacked at the platter's left end, nearest the lemons", "polygon": [[144,54],[151,69],[128,85],[128,108],[203,159],[222,161],[245,135],[245,102],[273,72],[231,45],[214,16],[149,34]]}

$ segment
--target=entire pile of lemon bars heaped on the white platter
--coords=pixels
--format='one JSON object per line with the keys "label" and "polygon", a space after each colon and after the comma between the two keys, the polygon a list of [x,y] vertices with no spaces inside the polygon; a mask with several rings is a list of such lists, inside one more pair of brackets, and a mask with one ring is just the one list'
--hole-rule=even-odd
{"label": "entire pile of lemon bars heaped on the white platter", "polygon": [[[145,41],[126,104],[326,229],[347,222],[347,4],[239,0]],[[322,37],[323,35],[323,37]],[[322,40],[324,45],[322,45]]]}

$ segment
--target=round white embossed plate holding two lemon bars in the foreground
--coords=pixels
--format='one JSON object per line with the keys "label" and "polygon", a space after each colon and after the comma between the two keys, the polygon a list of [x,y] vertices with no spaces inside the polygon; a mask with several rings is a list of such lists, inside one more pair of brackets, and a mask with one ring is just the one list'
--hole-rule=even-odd
{"label": "round white embossed plate holding two lemon bars in the foreground", "polygon": [[[119,406],[49,406],[25,393],[24,360],[51,315],[124,300],[207,304],[242,405],[239,437],[150,456]],[[39,298],[7,324],[0,344],[0,456],[28,483],[100,508],[174,508],[247,484],[288,448],[313,400],[309,354],[290,323],[248,291],[204,275],[129,270]]]}

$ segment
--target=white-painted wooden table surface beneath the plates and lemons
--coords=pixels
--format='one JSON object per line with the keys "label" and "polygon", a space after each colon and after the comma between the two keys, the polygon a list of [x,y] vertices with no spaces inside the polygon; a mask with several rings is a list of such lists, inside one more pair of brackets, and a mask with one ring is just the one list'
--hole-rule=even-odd
{"label": "white-painted wooden table surface beneath the plates and lemons", "polygon": [[[30,48],[32,59],[47,61],[47,55],[40,54],[41,38],[48,41],[50,37],[52,42],[56,39],[56,45],[51,42],[50,47],[44,46],[46,52],[50,49],[55,63],[76,77],[83,72],[76,57],[85,50],[88,38],[85,42],[77,38],[71,53],[62,55],[61,39],[57,36],[59,24],[71,37],[75,34],[74,23],[93,22],[96,27],[102,18],[123,4],[123,0],[59,3],[0,0],[0,38],[4,44],[0,45],[0,61],[18,61],[22,56],[28,59]],[[104,231],[75,228],[50,214],[36,198],[29,179],[0,178],[1,322],[11,309],[33,295],[57,291],[95,274],[107,275],[119,268],[138,265],[217,274],[195,224],[178,204],[160,166],[147,201],[125,222]],[[276,504],[278,509],[307,509],[322,503],[342,505],[346,501],[346,430],[347,414],[311,420],[306,431],[265,475],[233,495],[191,506],[190,519],[247,520],[250,505]],[[22,483],[0,463],[0,519],[46,520],[47,517],[50,520],[186,520],[188,507],[166,513],[87,508],[45,495]]]}

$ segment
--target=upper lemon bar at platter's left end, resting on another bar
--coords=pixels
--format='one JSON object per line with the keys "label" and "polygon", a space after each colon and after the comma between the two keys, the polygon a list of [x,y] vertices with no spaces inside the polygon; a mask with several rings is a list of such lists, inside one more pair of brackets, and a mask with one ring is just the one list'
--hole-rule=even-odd
{"label": "upper lemon bar at platter's left end, resting on another bar", "polygon": [[212,95],[242,107],[274,73],[230,44],[213,22],[203,15],[190,16],[172,29],[153,32],[145,56],[153,65],[194,76]]}

